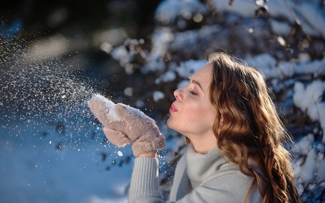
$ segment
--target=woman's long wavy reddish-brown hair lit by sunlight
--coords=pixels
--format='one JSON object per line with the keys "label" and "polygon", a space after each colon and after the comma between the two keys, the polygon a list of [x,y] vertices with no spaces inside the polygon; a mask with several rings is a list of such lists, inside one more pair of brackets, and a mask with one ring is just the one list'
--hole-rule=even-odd
{"label": "woman's long wavy reddish-brown hair lit by sunlight", "polygon": [[[265,75],[226,53],[215,52],[207,62],[213,64],[209,95],[217,112],[213,124],[217,147],[243,174],[253,177],[244,203],[256,183],[263,203],[301,203],[294,184],[294,158],[283,146],[283,142],[293,146],[294,141],[268,94]],[[221,116],[223,127],[218,133]],[[191,141],[185,137],[185,142]],[[248,164],[249,158],[266,179]]]}

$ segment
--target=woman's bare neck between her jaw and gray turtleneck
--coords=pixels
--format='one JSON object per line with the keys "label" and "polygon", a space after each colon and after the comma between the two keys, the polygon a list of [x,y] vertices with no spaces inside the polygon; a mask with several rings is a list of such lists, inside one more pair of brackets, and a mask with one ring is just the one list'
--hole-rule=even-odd
{"label": "woman's bare neck between her jaw and gray turtleneck", "polygon": [[[187,135],[185,135],[187,136]],[[193,143],[194,149],[200,154],[207,154],[212,148],[217,146],[217,139],[214,133],[206,135],[187,136]]]}

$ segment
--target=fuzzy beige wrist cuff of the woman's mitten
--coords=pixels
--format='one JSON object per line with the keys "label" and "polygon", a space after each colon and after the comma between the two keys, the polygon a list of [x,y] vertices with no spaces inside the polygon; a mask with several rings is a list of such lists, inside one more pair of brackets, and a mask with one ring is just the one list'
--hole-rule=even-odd
{"label": "fuzzy beige wrist cuff of the woman's mitten", "polygon": [[165,148],[166,140],[162,133],[152,141],[134,141],[132,143],[132,151],[134,156],[145,154],[149,151],[160,150]]}

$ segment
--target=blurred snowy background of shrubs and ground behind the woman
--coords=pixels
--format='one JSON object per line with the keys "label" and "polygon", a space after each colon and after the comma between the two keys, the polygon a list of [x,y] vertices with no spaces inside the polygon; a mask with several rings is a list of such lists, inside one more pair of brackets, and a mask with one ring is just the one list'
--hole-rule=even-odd
{"label": "blurred snowy background of shrubs and ground behind the woman", "polygon": [[0,1],[0,202],[127,202],[130,146],[105,139],[99,93],[157,121],[160,189],[185,149],[166,120],[215,51],[266,75],[296,146],[296,185],[325,201],[324,0]]}

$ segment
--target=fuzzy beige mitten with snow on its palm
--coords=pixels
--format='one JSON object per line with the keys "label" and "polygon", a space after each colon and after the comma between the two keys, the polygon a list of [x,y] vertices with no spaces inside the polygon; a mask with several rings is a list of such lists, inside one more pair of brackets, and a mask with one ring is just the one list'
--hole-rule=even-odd
{"label": "fuzzy beige mitten with snow on its palm", "polygon": [[105,126],[103,131],[114,145],[122,147],[132,142],[134,156],[166,146],[165,137],[156,122],[142,111],[95,95],[88,101],[91,112]]}

